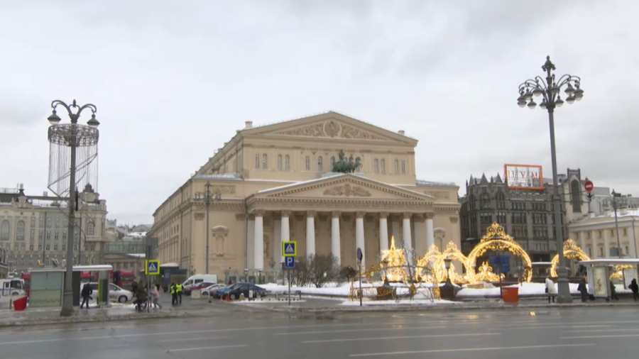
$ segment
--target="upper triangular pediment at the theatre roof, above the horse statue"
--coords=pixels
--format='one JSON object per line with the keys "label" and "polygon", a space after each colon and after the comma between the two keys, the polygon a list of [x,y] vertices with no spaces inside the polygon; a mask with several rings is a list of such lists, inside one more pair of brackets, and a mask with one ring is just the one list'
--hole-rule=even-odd
{"label": "upper triangular pediment at the theatre roof, above the horse statue", "polygon": [[244,130],[245,136],[325,138],[369,140],[387,143],[417,144],[417,140],[337,112],[275,123]]}

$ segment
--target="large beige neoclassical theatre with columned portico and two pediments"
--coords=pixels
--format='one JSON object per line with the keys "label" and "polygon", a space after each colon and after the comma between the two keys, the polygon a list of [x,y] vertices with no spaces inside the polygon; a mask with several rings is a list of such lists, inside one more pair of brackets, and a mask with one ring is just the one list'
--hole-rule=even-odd
{"label": "large beige neoclassical theatre with columned portico and two pediments", "polygon": [[[449,241],[461,248],[459,187],[417,180],[417,140],[403,131],[335,112],[245,125],[153,214],[148,236],[162,263],[204,273],[206,231],[209,272],[221,278],[279,270],[282,241],[297,241],[298,257],[332,253],[342,267],[356,267],[356,248],[365,266],[378,263],[391,236],[419,255]],[[332,172],[340,151],[359,170]]]}

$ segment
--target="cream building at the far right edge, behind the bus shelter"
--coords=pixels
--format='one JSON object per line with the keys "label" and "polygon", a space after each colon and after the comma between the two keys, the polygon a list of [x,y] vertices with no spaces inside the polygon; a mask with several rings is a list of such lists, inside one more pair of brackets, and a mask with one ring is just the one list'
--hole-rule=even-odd
{"label": "cream building at the far right edge, behind the bus shelter", "polygon": [[614,211],[606,211],[601,216],[592,215],[569,223],[569,236],[593,259],[617,258],[618,242],[621,244],[621,254],[624,258],[637,258],[639,210],[618,210],[617,222],[619,241],[617,241]]}

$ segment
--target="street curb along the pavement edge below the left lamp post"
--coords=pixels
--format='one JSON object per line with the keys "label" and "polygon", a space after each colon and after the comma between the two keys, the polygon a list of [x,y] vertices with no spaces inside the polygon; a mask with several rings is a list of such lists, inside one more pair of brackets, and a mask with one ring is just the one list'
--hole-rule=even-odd
{"label": "street curb along the pavement edge below the left lamp post", "polygon": [[191,313],[181,312],[166,312],[166,313],[131,313],[121,314],[114,316],[72,316],[72,317],[60,317],[55,319],[32,319],[24,321],[8,321],[1,322],[0,328],[7,328],[11,326],[45,326],[53,324],[76,324],[76,323],[93,323],[100,321],[128,321],[128,320],[148,320],[148,319],[166,319],[166,318],[187,318],[193,316]]}

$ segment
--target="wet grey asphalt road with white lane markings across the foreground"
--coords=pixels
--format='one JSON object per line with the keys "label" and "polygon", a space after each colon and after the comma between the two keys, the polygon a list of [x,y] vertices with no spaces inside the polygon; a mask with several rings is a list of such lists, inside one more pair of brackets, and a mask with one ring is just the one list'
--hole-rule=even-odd
{"label": "wet grey asphalt road with white lane markings across the foreground", "polygon": [[1,359],[638,358],[639,306],[283,314],[0,329]]}

